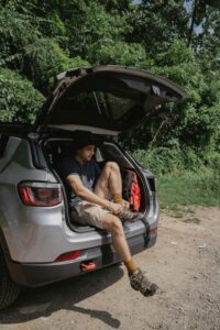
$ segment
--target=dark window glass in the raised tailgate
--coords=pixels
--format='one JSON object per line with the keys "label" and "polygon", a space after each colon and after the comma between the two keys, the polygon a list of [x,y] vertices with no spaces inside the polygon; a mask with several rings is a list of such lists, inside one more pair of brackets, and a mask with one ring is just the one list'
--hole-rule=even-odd
{"label": "dark window glass in the raised tailgate", "polygon": [[129,129],[145,114],[140,99],[102,91],[74,94],[57,105],[50,123]]}

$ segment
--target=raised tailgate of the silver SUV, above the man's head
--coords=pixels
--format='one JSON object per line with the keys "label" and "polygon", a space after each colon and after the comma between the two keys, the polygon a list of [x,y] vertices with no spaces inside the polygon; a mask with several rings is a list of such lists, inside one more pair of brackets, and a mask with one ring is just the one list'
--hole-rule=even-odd
{"label": "raised tailgate of the silver SUV, above the man's head", "polygon": [[173,81],[120,66],[73,69],[58,77],[40,111],[35,130],[86,130],[119,135],[135,130],[161,105],[185,99]]}

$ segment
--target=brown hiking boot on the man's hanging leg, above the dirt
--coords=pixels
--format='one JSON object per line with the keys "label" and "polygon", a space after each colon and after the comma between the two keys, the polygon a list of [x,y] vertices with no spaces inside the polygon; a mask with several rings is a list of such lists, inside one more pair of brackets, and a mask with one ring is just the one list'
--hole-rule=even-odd
{"label": "brown hiking boot on the man's hanging leg, above the dirt", "polygon": [[155,283],[148,280],[140,268],[130,275],[130,284],[134,290],[140,292],[145,297],[153,296],[158,288]]}

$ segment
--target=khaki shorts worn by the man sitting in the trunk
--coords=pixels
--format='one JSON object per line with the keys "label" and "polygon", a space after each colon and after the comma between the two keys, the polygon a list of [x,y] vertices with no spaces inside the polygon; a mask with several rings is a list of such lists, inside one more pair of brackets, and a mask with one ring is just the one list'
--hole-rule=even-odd
{"label": "khaki shorts worn by the man sitting in the trunk", "polygon": [[75,206],[75,210],[77,215],[74,210],[72,211],[73,221],[84,226],[90,224],[100,229],[103,228],[102,222],[106,215],[110,213],[109,210],[85,200],[79,201]]}

